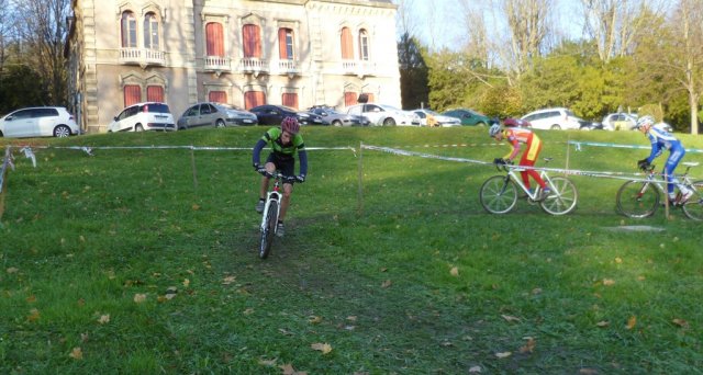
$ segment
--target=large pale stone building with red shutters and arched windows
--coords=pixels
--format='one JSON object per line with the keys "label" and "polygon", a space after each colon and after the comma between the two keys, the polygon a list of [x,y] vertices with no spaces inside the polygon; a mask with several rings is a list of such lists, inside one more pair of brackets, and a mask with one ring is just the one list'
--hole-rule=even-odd
{"label": "large pale stone building with red shutters and arched windows", "polygon": [[72,0],[70,106],[87,133],[130,104],[400,106],[390,0]]}

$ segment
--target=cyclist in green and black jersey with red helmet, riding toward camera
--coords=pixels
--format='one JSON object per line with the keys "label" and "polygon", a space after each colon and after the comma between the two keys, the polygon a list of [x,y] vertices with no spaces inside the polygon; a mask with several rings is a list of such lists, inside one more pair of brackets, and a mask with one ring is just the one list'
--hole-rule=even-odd
{"label": "cyclist in green and black jersey with red helmet, riding toward camera", "polygon": [[[305,181],[305,174],[308,174],[308,152],[305,152],[305,144],[303,137],[298,134],[300,132],[300,124],[294,117],[286,117],[281,122],[280,127],[271,127],[264,134],[261,139],[254,146],[254,154],[252,156],[252,162],[254,169],[264,174],[261,179],[261,189],[259,190],[259,202],[256,204],[256,212],[259,214],[264,212],[266,204],[266,193],[268,192],[269,178],[266,174],[274,173],[279,170],[281,173],[288,177],[295,177],[295,181]],[[266,145],[271,146],[271,154],[266,159],[266,164],[259,163],[259,157],[261,150]],[[300,173],[295,175],[295,155],[300,158]],[[290,195],[293,192],[293,181],[283,182],[283,198],[281,200],[281,212],[278,218],[278,228],[276,234],[282,237],[286,234],[283,227],[283,219],[286,218],[286,212],[290,204]]]}

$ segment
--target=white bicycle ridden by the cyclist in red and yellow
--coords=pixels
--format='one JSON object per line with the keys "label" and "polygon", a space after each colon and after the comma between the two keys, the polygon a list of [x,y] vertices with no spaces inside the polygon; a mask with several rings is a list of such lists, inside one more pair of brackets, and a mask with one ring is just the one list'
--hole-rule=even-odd
{"label": "white bicycle ridden by the cyclist in red and yellow", "polygon": [[[551,158],[545,158],[545,162],[549,162]],[[539,177],[545,181],[551,193],[542,197],[542,191],[536,189],[531,192],[525,188],[522,177],[518,172],[525,168],[513,167],[509,164],[496,164],[499,171],[505,172],[504,175],[490,177],[481,185],[479,197],[481,205],[491,214],[506,214],[517,203],[517,193],[520,190],[525,194],[524,197],[531,204],[539,204],[542,209],[550,215],[566,215],[576,208],[578,201],[578,192],[573,183],[563,177],[549,177],[547,171],[540,171]]]}

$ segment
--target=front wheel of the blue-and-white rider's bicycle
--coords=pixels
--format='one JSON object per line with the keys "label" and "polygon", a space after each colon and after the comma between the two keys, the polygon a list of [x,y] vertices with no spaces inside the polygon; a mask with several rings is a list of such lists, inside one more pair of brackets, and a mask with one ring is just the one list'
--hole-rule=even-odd
{"label": "front wheel of the blue-and-white rider's bicycle", "polygon": [[627,217],[648,217],[659,206],[659,191],[651,182],[627,181],[617,191],[615,202],[617,212]]}

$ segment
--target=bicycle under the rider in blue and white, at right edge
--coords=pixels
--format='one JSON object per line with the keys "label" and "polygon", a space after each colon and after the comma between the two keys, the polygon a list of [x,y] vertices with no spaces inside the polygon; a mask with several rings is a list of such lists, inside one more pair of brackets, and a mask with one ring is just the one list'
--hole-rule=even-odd
{"label": "bicycle under the rider in blue and white, at right edge", "polygon": [[[691,189],[693,195],[683,204],[677,203],[681,198],[681,193],[677,195],[677,200],[672,203],[673,207],[681,207],[683,214],[694,220],[703,220],[703,181],[691,181],[689,170],[696,167],[698,162],[682,162],[685,166],[685,172],[680,175],[680,184]],[[660,173],[654,171],[655,166],[649,166],[645,170],[647,175],[645,181],[633,180],[625,182],[615,197],[617,211],[632,218],[641,218],[654,215],[660,206],[660,197],[668,197],[667,182],[658,180]]]}

